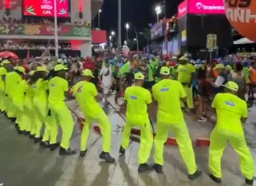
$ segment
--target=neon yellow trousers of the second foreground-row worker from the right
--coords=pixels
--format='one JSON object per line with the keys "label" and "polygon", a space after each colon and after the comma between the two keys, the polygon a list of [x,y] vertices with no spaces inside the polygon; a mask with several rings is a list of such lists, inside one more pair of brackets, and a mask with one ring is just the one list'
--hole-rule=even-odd
{"label": "neon yellow trousers of the second foreground-row worker from the right", "polygon": [[155,163],[163,165],[163,147],[168,138],[169,130],[173,130],[179,146],[181,157],[187,166],[188,174],[194,174],[197,169],[195,163],[195,154],[185,120],[182,119],[180,123],[170,124],[161,122],[158,119],[156,125],[156,136],[154,140]]}

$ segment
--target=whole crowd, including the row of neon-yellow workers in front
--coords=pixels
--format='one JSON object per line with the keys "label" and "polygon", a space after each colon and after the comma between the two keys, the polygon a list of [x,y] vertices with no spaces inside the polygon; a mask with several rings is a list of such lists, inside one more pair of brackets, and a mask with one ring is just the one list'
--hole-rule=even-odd
{"label": "whole crowd, including the row of neon-yellow workers in front", "polygon": [[[253,57],[229,55],[212,61],[190,59],[191,56],[154,55],[114,58],[77,58],[62,56],[54,62],[42,57],[30,64],[15,66],[3,59],[0,68],[0,109],[16,123],[18,134],[29,136],[42,148],[51,151],[60,146],[60,155],[73,155],[69,147],[74,120],[65,105],[65,97],[74,97],[85,116],[81,133],[80,156],[87,153],[91,125],[97,121],[102,134],[100,158],[113,163],[111,157],[111,123],[100,107],[109,92],[116,92],[124,103],[127,122],[120,145],[122,156],[129,145],[132,128],[141,130],[138,154],[139,172],[150,170],[147,163],[154,143],[154,170],[161,174],[163,148],[169,130],[173,130],[181,157],[194,180],[202,174],[196,165],[192,141],[183,116],[184,109],[198,114],[206,121],[207,102],[216,110],[216,125],[209,147],[209,175],[221,182],[221,156],[227,141],[240,157],[241,172],[247,184],[253,184],[254,161],[247,147],[242,123],[246,122],[246,101],[254,100],[256,64]],[[248,88],[248,91],[247,91]],[[248,99],[245,94],[248,92]],[[199,107],[195,108],[195,100]],[[157,104],[156,134],[153,136],[148,108]],[[61,143],[57,142],[58,126],[62,129]],[[42,126],[45,126],[41,137]]]}

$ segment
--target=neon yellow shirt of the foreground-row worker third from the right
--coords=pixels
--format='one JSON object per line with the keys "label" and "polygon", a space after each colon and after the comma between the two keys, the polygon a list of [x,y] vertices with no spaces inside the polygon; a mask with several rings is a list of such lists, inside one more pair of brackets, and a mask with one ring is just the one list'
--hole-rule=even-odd
{"label": "neon yellow shirt of the foreground-row worker third from the right", "polygon": [[130,123],[143,125],[148,120],[147,104],[152,102],[150,91],[137,86],[128,87],[124,92],[127,101],[126,118]]}

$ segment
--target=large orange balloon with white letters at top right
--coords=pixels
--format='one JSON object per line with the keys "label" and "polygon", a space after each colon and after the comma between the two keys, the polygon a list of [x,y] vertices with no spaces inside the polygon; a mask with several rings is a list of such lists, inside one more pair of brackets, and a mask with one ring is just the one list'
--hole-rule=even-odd
{"label": "large orange balloon with white letters at top right", "polygon": [[256,41],[256,0],[225,0],[225,12],[235,30]]}

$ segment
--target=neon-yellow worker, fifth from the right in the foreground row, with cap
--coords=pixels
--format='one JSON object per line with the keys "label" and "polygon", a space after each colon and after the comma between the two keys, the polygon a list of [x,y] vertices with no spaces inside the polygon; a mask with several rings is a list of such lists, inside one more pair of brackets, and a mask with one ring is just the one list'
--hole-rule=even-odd
{"label": "neon-yellow worker, fifth from the right in the foreground row, with cap", "polygon": [[[70,110],[65,105],[65,96],[71,96],[72,93],[69,91],[68,81],[65,79],[68,68],[64,67],[62,64],[57,64],[54,68],[54,77],[49,80],[49,96],[48,104],[50,109],[50,115],[54,118],[54,121],[59,121],[62,128],[62,140],[61,148],[59,151],[60,155],[73,155],[76,153],[75,150],[69,148],[69,141],[73,134],[74,120],[71,115]],[[56,125],[51,129],[52,135],[57,136],[58,128]],[[51,150],[57,148],[57,139],[50,141]]]}

